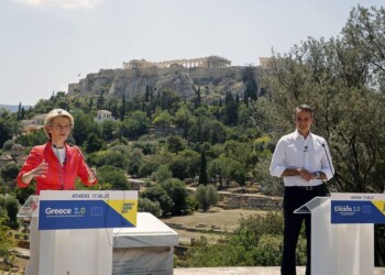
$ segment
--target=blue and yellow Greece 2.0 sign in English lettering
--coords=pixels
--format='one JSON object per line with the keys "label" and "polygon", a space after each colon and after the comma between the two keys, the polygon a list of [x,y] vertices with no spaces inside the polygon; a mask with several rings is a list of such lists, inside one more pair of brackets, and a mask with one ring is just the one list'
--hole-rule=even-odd
{"label": "blue and yellow Greece 2.0 sign in English lettering", "polygon": [[38,198],[38,230],[133,228],[138,191],[45,190]]}

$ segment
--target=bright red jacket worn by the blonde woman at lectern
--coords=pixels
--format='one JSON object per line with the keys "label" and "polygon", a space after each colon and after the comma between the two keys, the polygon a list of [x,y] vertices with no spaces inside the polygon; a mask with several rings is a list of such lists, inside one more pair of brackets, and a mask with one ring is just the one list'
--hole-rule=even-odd
{"label": "bright red jacket worn by the blonde woman at lectern", "polygon": [[80,151],[66,143],[65,147],[66,158],[62,166],[53,151],[51,142],[34,146],[18,175],[18,186],[21,188],[29,186],[21,180],[21,177],[23,174],[36,168],[37,165],[42,163],[43,158],[48,163],[48,170],[46,177],[35,177],[36,195],[38,195],[41,190],[74,190],[77,177],[80,177],[82,184],[86,186],[97,184],[98,180],[95,180],[95,183],[88,182],[87,164]]}

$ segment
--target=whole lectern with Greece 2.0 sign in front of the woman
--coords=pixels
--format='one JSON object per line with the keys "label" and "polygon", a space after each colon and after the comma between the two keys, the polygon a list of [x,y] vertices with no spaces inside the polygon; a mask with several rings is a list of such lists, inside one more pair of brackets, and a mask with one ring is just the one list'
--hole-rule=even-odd
{"label": "whole lectern with Greece 2.0 sign in front of the woman", "polygon": [[135,220],[130,222],[125,216],[135,218],[136,207],[136,191],[61,190],[31,196],[18,213],[32,218],[30,240],[37,241],[37,257],[31,251],[28,273],[111,274],[113,228],[134,227]]}

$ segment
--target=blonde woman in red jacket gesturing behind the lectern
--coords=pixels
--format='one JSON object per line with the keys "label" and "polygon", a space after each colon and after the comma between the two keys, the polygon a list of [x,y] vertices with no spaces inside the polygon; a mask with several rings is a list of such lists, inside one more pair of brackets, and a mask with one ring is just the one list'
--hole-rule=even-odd
{"label": "blonde woman in red jacket gesturing behind the lectern", "polygon": [[[35,179],[38,195],[41,190],[73,190],[77,177],[87,186],[98,183],[80,150],[66,143],[73,128],[74,118],[69,112],[54,109],[48,113],[44,120],[44,132],[48,142],[31,150],[18,175],[19,187],[26,187]],[[33,217],[30,223],[30,261],[25,274],[38,274],[38,265],[40,231],[37,218]]]}

